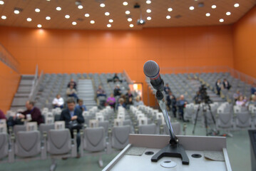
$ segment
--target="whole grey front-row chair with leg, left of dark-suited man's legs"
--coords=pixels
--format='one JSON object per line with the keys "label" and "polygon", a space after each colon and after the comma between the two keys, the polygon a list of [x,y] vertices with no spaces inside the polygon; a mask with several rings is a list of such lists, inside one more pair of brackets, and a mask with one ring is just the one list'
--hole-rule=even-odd
{"label": "whole grey front-row chair with leg, left of dark-suited man's legs", "polygon": [[68,129],[48,130],[47,152],[51,156],[50,170],[56,169],[56,159],[62,157],[76,157],[76,133],[72,143],[71,133]]}

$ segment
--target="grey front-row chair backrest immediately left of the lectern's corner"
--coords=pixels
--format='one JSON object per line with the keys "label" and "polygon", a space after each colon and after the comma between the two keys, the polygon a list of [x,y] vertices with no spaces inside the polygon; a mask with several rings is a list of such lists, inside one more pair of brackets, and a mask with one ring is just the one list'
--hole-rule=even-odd
{"label": "grey front-row chair backrest immediately left of the lectern's corner", "polygon": [[130,126],[114,126],[111,135],[111,147],[123,149],[129,143]]}

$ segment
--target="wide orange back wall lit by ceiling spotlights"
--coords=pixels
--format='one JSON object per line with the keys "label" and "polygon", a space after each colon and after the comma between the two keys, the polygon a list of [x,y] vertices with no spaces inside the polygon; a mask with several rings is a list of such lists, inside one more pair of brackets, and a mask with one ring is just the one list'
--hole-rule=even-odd
{"label": "wide orange back wall lit by ceiling spotlights", "polygon": [[45,73],[113,73],[125,69],[132,80],[145,84],[143,64],[150,59],[160,67],[233,67],[231,26],[140,31],[0,26],[0,42],[20,62],[21,73],[34,73],[37,63]]}

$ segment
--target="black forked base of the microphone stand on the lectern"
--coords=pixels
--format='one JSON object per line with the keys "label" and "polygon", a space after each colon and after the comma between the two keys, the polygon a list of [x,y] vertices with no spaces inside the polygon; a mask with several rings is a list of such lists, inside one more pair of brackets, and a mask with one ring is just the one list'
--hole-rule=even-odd
{"label": "black forked base of the microphone stand on the lectern", "polygon": [[162,157],[180,157],[183,165],[189,165],[188,155],[182,145],[166,145],[158,153],[153,155],[151,162],[158,162]]}

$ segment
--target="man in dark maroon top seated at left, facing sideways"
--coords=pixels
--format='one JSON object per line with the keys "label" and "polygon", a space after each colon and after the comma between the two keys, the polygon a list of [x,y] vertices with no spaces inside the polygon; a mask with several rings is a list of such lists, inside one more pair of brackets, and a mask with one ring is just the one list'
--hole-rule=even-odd
{"label": "man in dark maroon top seated at left, facing sideways", "polygon": [[24,121],[26,119],[29,119],[27,118],[28,115],[31,116],[31,120],[28,120],[28,121],[36,122],[38,125],[43,123],[43,117],[41,115],[41,111],[39,110],[39,108],[34,107],[33,101],[28,100],[26,102],[26,110],[22,113],[18,113],[14,117],[10,117],[8,120],[8,125],[9,126],[22,125],[24,124]]}

